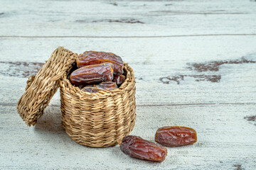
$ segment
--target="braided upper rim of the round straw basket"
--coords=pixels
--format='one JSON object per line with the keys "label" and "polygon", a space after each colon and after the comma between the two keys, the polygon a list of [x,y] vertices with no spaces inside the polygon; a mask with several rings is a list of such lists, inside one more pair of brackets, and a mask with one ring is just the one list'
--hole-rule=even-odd
{"label": "braided upper rim of the round straw basket", "polygon": [[123,91],[127,91],[127,90],[131,89],[131,86],[133,86],[135,84],[135,81],[133,81],[134,72],[133,72],[132,67],[129,67],[128,63],[124,62],[124,70],[125,70],[125,72],[127,72],[126,79],[124,80],[124,83],[122,83],[122,85],[119,86],[119,88],[114,89],[114,90],[100,89],[100,91],[98,91],[97,93],[81,91],[78,86],[73,86],[71,84],[70,80],[67,78],[68,72],[65,72],[60,79],[60,88],[68,89],[69,91],[74,91],[75,94],[78,94],[82,97],[88,96],[88,97],[92,98],[92,96],[95,96],[95,97],[99,97],[99,98],[100,97],[105,98],[106,96],[113,96],[113,95],[116,95],[119,93],[123,93]]}

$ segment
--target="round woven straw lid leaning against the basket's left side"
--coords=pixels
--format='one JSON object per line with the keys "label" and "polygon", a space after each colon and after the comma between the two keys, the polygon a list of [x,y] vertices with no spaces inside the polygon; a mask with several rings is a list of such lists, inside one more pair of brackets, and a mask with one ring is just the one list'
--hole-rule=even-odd
{"label": "round woven straw lid leaning against the basket's left side", "polygon": [[59,87],[59,79],[68,72],[77,54],[63,47],[54,50],[36,76],[29,77],[26,91],[17,104],[18,113],[28,126],[35,125]]}

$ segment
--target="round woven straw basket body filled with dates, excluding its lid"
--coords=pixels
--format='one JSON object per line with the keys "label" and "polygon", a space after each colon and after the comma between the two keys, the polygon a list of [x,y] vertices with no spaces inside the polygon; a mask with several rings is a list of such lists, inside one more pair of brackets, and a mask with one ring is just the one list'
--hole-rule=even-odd
{"label": "round woven straw basket body filled with dates, excluding its lid", "polygon": [[124,64],[127,79],[112,91],[87,93],[72,86],[64,74],[60,79],[63,127],[80,145],[110,147],[132,131],[136,118],[135,81]]}

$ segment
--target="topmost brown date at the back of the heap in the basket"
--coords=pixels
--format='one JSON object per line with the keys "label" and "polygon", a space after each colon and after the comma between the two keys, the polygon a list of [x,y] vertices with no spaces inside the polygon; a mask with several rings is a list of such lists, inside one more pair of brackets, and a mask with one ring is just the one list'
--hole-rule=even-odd
{"label": "topmost brown date at the back of the heap in the basket", "polygon": [[85,51],[84,53],[78,55],[76,60],[78,68],[85,67],[91,64],[100,64],[103,62],[110,62],[114,65],[114,74],[122,74],[124,63],[122,58],[114,55],[111,52],[95,52],[95,51]]}

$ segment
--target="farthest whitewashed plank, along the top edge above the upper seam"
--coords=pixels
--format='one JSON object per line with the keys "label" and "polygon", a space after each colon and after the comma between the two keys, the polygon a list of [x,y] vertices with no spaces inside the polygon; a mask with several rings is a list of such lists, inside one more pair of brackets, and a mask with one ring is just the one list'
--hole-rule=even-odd
{"label": "farthest whitewashed plank, along the top edge above the upper seam", "polygon": [[0,6],[0,35],[9,37],[256,33],[255,1],[10,0]]}

